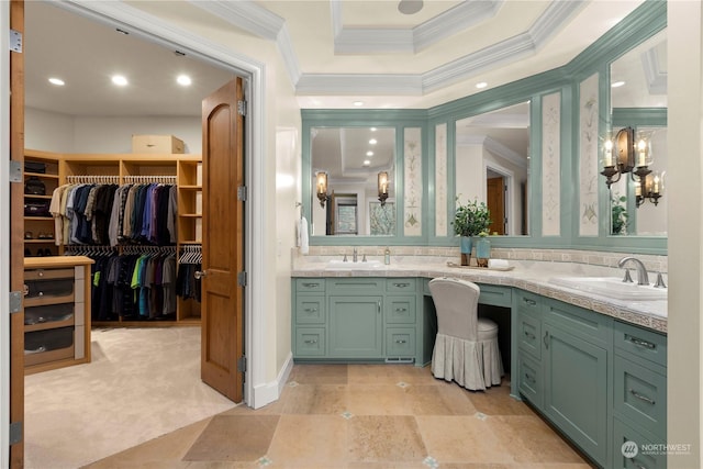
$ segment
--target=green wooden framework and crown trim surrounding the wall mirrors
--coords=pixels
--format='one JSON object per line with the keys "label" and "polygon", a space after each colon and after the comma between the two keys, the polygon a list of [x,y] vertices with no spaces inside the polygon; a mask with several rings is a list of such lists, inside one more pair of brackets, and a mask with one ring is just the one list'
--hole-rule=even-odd
{"label": "green wooden framework and crown trim surrounding the wall mirrors", "polygon": [[[311,236],[311,245],[402,245],[402,246],[458,246],[458,237],[437,236],[434,233],[434,203],[436,188],[435,174],[435,129],[446,125],[447,167],[454,167],[455,125],[458,120],[494,111],[507,105],[531,101],[531,175],[528,192],[529,235],[491,236],[494,247],[524,248],[574,248],[584,250],[613,250],[641,254],[667,254],[667,237],[663,236],[611,236],[610,194],[605,183],[599,180],[599,230],[598,236],[581,236],[578,228],[579,196],[573,189],[578,183],[579,155],[579,83],[598,74],[599,133],[606,135],[612,129],[628,120],[629,125],[666,125],[666,109],[614,110],[610,113],[610,64],[637,44],[663,30],[667,25],[667,5],[661,1],[645,1],[631,15],[605,33],[569,64],[494,89],[479,92],[427,110],[302,110],[302,200],[303,214],[310,217],[314,203],[312,191],[312,169],[310,155],[310,133],[312,127],[335,126],[394,126],[397,139],[395,200],[398,202],[395,236]],[[561,210],[560,235],[543,236],[540,219],[542,199],[542,102],[548,94],[560,94],[560,164],[561,164]],[[604,104],[603,104],[604,103]],[[632,113],[637,114],[633,121]],[[422,235],[403,236],[403,135],[405,129],[421,129],[423,212]],[[577,157],[573,157],[576,155]],[[455,183],[454,174],[448,171],[446,182],[447,221],[454,217]],[[665,202],[666,203],[666,202]],[[309,219],[310,220],[310,219]]]}

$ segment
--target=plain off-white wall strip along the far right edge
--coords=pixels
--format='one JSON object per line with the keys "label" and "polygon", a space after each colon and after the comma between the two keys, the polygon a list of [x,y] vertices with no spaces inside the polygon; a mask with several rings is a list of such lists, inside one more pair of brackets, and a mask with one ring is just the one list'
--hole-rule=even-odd
{"label": "plain off-white wall strip along the far right edge", "polygon": [[703,467],[703,11],[698,1],[670,1],[668,18],[669,308],[667,443],[689,444],[669,469]]}

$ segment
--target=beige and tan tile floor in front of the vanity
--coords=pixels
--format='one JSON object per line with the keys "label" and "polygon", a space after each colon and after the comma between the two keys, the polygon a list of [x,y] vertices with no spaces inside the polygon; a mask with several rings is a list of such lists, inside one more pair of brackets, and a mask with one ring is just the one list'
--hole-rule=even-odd
{"label": "beige and tan tile floor in front of the vanity", "polygon": [[281,399],[237,406],[87,466],[588,469],[510,383],[467,391],[408,365],[295,365]]}

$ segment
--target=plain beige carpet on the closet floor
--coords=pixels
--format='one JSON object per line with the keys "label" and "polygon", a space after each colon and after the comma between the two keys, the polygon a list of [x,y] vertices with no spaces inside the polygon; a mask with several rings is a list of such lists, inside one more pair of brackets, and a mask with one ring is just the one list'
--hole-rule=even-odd
{"label": "plain beige carpet on the closet floor", "polygon": [[25,377],[26,469],[78,468],[235,406],[200,380],[200,327],[91,342],[90,364]]}

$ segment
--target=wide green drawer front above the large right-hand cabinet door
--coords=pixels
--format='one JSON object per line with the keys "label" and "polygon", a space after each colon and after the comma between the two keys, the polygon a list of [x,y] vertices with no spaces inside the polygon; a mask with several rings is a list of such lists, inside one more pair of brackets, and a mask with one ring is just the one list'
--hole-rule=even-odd
{"label": "wide green drawer front above the large right-hand cabinet door", "polygon": [[613,321],[602,314],[595,313],[573,304],[545,299],[543,317],[545,321],[562,327],[565,331],[587,342],[610,346],[613,339]]}

